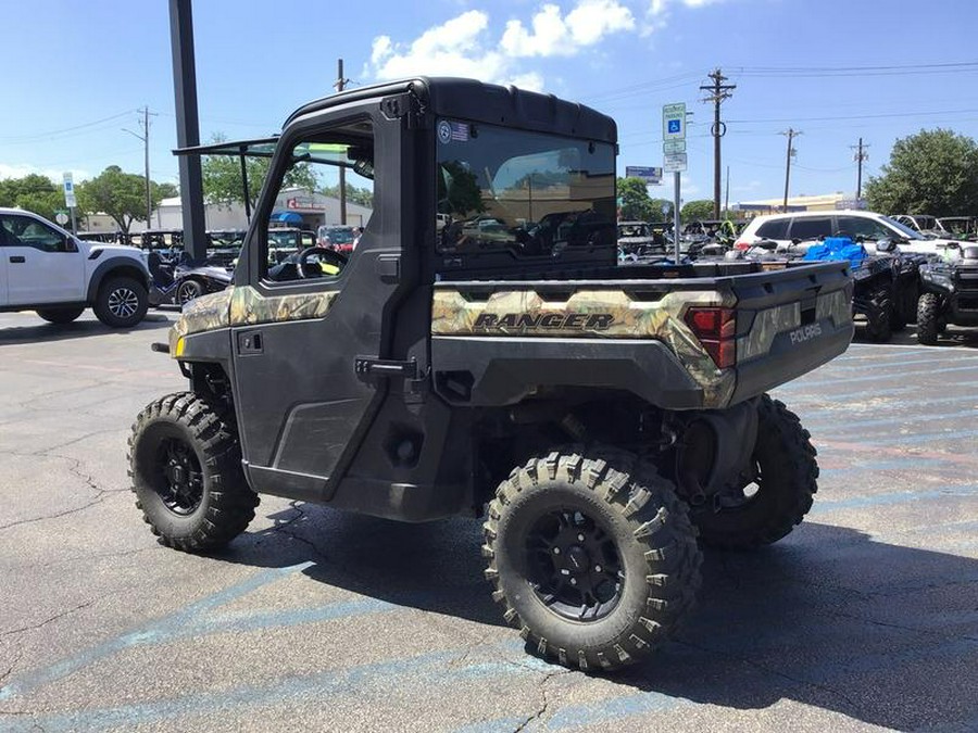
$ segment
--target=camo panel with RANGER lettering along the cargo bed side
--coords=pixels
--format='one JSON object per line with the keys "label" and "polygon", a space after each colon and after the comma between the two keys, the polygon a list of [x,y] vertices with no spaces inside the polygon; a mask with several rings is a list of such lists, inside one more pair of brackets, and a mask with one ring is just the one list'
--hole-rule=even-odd
{"label": "camo panel with RANGER lettering along the cargo bed side", "polygon": [[[544,301],[534,290],[496,292],[484,301],[466,299],[452,289],[436,289],[431,312],[435,336],[531,336],[599,339],[657,339],[668,344],[686,370],[703,390],[706,407],[726,405],[736,386],[734,369],[718,369],[710,354],[682,320],[691,305],[732,307],[734,295],[716,291],[678,291],[657,301],[634,300],[623,290],[581,290],[566,301]],[[480,315],[527,314],[562,316],[609,314],[607,328],[492,328],[480,329]]]}

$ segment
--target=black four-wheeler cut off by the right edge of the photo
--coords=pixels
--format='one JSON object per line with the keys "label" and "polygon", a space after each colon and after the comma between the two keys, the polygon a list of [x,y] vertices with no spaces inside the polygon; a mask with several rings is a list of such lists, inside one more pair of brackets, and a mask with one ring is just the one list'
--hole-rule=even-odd
{"label": "black four-wheeler cut off by the right edge of the photo", "polygon": [[978,327],[978,245],[920,267],[917,341],[933,345],[948,325]]}

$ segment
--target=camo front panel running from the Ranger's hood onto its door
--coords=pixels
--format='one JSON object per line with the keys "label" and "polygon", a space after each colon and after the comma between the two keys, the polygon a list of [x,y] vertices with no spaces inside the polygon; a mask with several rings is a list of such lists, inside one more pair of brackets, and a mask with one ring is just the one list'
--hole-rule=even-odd
{"label": "camo front panel running from the Ranger's hood onto its door", "polygon": [[227,288],[203,295],[185,305],[180,317],[170,329],[170,353],[176,353],[180,337],[191,333],[228,326],[322,318],[329,312],[336,295],[335,291],[329,291],[266,298],[251,286]]}

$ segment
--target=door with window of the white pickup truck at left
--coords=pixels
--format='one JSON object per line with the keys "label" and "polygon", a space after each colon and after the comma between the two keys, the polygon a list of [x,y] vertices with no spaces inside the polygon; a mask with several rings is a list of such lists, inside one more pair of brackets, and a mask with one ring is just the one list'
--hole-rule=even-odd
{"label": "door with window of the white pickup truck at left", "polygon": [[10,305],[80,303],[85,262],[74,240],[39,218],[2,214]]}

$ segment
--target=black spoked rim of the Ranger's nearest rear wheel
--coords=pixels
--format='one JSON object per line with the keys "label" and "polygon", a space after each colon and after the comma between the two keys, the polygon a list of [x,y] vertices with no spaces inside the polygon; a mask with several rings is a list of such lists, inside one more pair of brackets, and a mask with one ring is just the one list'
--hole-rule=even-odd
{"label": "black spoked rim of the Ranger's nearest rear wheel", "polygon": [[614,610],[625,569],[611,534],[578,509],[539,517],[526,538],[528,580],[553,612],[573,621],[598,621]]}

